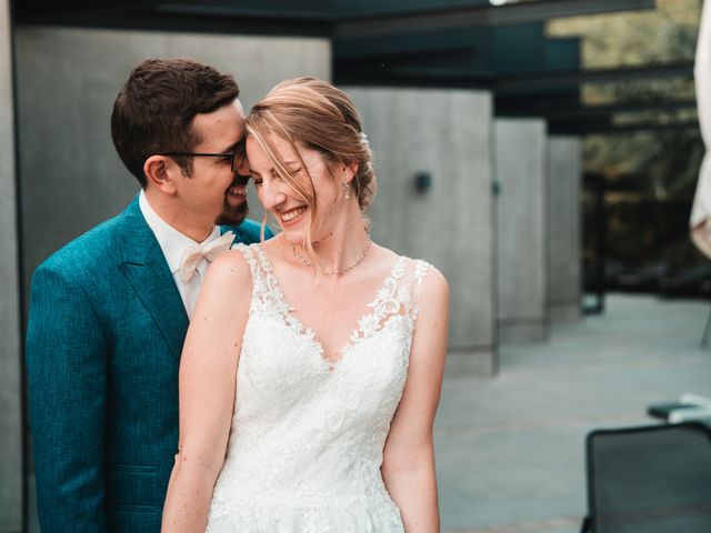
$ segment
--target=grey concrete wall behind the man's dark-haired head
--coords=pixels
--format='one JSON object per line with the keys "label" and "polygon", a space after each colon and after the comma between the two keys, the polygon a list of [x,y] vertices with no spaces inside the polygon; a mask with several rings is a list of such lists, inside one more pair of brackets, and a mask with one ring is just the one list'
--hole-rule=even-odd
{"label": "grey concrete wall behind the man's dark-haired head", "polygon": [[283,79],[330,79],[331,69],[326,39],[20,27],[17,40],[28,274],[138,192],[109,124],[119,87],[140,61],[191,57],[231,72],[246,110]]}

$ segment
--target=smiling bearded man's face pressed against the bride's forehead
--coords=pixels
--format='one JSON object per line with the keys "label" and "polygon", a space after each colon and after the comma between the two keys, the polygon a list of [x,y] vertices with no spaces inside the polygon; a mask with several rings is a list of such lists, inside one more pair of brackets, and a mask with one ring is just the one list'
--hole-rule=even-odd
{"label": "smiling bearded man's face pressed against the bride's forehead", "polygon": [[[178,185],[184,212],[209,218],[216,224],[238,225],[247,217],[249,181],[248,175],[232,172],[229,155],[244,151],[244,112],[239,100],[211,113],[196,115],[192,128],[200,139],[192,152],[224,153],[226,157],[192,158],[191,175],[181,177]],[[239,158],[237,163],[240,164]]]}

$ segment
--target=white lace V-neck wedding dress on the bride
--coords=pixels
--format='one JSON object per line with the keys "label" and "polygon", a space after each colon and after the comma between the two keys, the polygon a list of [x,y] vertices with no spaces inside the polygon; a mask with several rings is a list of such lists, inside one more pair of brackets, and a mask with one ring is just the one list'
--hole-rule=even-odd
{"label": "white lace V-neck wedding dress on the bride", "polygon": [[210,533],[395,533],[380,466],[429,265],[398,258],[336,362],[290,310],[259,244]]}

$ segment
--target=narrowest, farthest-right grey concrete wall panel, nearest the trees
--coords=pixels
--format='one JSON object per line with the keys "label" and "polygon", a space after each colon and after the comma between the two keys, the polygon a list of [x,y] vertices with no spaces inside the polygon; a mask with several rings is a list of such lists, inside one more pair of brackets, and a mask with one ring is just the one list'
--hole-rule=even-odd
{"label": "narrowest, farthest-right grey concrete wall panel, nearest the trees", "polygon": [[548,306],[562,322],[580,318],[581,148],[577,137],[551,137],[548,147]]}

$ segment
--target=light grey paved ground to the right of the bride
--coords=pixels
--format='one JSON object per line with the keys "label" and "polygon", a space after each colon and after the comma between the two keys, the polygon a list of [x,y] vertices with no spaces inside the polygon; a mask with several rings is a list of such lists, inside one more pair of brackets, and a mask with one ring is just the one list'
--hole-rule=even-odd
{"label": "light grey paved ground to the right of the bride", "polygon": [[709,304],[609,296],[604,314],[503,346],[492,380],[448,378],[435,424],[445,533],[577,533],[584,438],[654,423],[650,403],[711,395]]}

